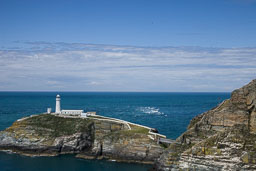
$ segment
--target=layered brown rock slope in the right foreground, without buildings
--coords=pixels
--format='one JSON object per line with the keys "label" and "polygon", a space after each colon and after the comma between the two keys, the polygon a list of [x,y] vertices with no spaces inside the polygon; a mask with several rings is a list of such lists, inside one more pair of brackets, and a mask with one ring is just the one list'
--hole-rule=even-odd
{"label": "layered brown rock slope in the right foreground, without buildings", "polygon": [[193,118],[156,163],[158,170],[255,170],[256,80]]}

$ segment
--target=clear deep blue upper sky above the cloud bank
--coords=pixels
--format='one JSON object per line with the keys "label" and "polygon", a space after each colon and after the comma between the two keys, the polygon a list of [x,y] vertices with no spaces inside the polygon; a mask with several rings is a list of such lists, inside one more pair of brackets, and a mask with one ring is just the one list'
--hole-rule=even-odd
{"label": "clear deep blue upper sky above the cloud bank", "polygon": [[1,44],[251,47],[255,0],[1,0]]}

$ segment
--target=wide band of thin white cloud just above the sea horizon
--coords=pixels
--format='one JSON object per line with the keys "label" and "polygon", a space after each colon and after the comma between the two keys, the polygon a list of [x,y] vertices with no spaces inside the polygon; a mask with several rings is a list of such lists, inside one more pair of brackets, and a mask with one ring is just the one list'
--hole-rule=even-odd
{"label": "wide band of thin white cloud just above the sea horizon", "polygon": [[231,91],[256,73],[256,48],[18,45],[0,49],[2,91]]}

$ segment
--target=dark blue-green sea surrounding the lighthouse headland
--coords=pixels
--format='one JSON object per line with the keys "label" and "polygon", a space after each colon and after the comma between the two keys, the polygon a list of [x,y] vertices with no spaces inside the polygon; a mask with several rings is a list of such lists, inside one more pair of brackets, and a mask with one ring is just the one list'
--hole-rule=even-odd
{"label": "dark blue-green sea surrounding the lighthouse headland", "polygon": [[[0,130],[22,117],[55,109],[83,109],[156,128],[176,139],[190,120],[230,98],[230,93],[152,92],[0,92]],[[0,171],[144,171],[151,166],[105,160],[77,159],[73,155],[26,157],[0,152]]]}

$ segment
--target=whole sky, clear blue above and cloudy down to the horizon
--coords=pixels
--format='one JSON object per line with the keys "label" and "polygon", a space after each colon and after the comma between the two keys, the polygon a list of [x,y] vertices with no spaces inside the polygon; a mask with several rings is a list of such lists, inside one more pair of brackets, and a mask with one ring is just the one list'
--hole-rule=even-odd
{"label": "whole sky, clear blue above and cloudy down to the horizon", "polygon": [[256,0],[0,0],[0,91],[230,92]]}

